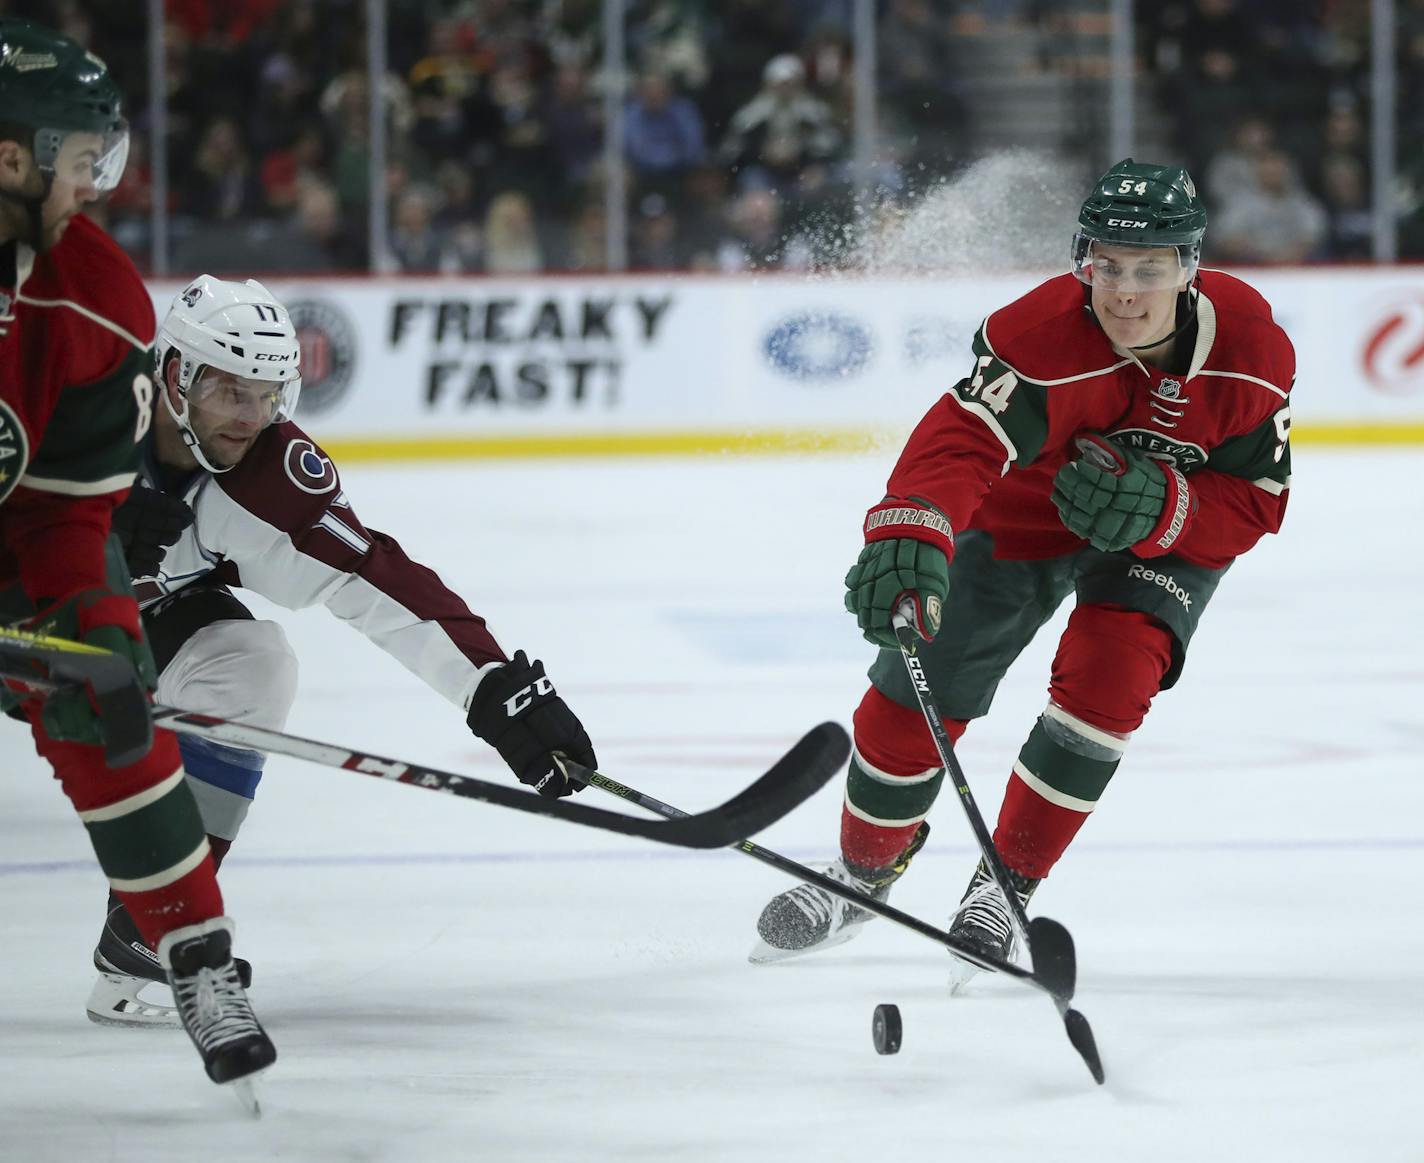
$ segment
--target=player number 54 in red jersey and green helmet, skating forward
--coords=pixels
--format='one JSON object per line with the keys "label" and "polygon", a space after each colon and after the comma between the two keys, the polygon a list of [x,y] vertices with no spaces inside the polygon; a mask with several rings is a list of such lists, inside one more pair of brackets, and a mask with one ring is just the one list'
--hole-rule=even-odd
{"label": "player number 54 in red jersey and green helmet, skating forward", "polygon": [[[924,843],[944,779],[891,626],[903,602],[958,739],[1075,595],[994,831],[1027,902],[1176,683],[1222,574],[1284,515],[1294,353],[1257,292],[1198,269],[1206,211],[1190,177],[1122,161],[1078,225],[1072,273],[984,320],[970,374],[910,436],[846,575],[846,605],[881,652],[827,871],[880,900]],[[839,944],[867,920],[797,885],[762,911],[752,959]],[[1012,952],[983,861],[951,932]]]}

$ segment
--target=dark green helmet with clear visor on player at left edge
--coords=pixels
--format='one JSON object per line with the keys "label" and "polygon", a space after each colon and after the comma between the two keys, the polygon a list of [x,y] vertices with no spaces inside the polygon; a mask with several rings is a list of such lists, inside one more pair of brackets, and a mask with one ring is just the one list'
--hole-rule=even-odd
{"label": "dark green helmet with clear visor on player at left edge", "polygon": [[[33,134],[24,144],[48,179],[58,167],[67,181],[87,177],[108,191],[124,175],[128,122],[108,65],[28,20],[0,19],[0,125]],[[84,141],[71,158],[64,145],[77,134],[97,141]]]}

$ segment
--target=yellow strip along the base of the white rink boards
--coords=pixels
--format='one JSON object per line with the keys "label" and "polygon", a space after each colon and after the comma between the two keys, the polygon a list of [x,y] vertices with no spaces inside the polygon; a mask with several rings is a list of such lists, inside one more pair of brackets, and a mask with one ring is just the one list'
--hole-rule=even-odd
{"label": "yellow strip along the base of the white rink boards", "polygon": [[[323,440],[337,461],[514,460],[550,457],[786,456],[870,453],[897,448],[903,431],[866,428],[560,433],[548,436],[453,436]],[[1424,444],[1420,424],[1300,424],[1297,444]]]}

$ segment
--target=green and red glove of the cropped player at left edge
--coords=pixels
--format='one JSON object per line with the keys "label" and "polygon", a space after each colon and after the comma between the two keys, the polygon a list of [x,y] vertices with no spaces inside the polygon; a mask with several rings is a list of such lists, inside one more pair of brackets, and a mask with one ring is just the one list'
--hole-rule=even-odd
{"label": "green and red glove of the cropped player at left edge", "polygon": [[[158,685],[152,652],[138,621],[138,602],[131,594],[95,586],[71,594],[36,615],[26,629],[50,638],[67,638],[98,646],[128,659],[145,690]],[[44,700],[46,733],[66,743],[103,744],[98,707],[88,690],[57,690]]]}

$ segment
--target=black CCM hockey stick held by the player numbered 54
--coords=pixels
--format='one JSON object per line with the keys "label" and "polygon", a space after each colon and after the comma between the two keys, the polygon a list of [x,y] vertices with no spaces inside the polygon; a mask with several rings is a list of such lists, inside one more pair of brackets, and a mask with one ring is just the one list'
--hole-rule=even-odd
{"label": "black CCM hockey stick held by the player numbered 54", "polygon": [[[1014,891],[1014,885],[1010,884],[1008,870],[1004,867],[1004,861],[1000,860],[998,850],[994,847],[994,838],[988,834],[988,828],[984,826],[984,817],[978,810],[978,804],[974,803],[974,793],[970,791],[968,780],[964,777],[964,769],[960,766],[958,757],[954,754],[954,744],[950,742],[950,733],[944,729],[944,720],[940,717],[940,709],[934,705],[934,696],[930,693],[930,680],[924,676],[924,668],[920,665],[920,638],[910,628],[910,618],[914,611],[910,606],[909,599],[900,604],[899,612],[894,615],[894,636],[900,643],[900,656],[904,659],[906,669],[910,672],[910,685],[914,688],[914,698],[920,703],[920,712],[924,715],[924,722],[930,727],[930,735],[934,736],[934,747],[940,753],[940,762],[944,763],[946,770],[950,773],[950,779],[954,782],[954,790],[958,791],[960,804],[964,807],[964,814],[968,817],[970,827],[974,831],[974,838],[978,841],[980,854],[984,857],[984,865],[988,868],[990,875],[994,878],[994,884],[998,885],[998,891],[1004,894],[1008,904],[1008,915],[1014,922],[1014,928],[1018,931],[1020,940],[1028,947],[1028,959],[1034,965],[1034,972],[1045,972],[1052,975],[1054,969],[1051,962],[1054,958],[1062,955],[1064,942],[1049,941],[1048,947],[1041,947],[1038,942],[1041,937],[1035,937],[1035,928],[1030,924],[1028,914],[1024,911],[1024,902],[1018,898],[1018,893]],[[1041,918],[1040,918],[1041,920]],[[1062,935],[1067,940],[1067,948],[1071,951],[1074,948],[1072,938],[1068,935],[1068,930],[1058,925]],[[1044,932],[1042,927],[1038,927],[1037,932]],[[965,958],[971,961],[973,958]],[[983,965],[980,968],[984,968]],[[1092,1028],[1088,1025],[1088,1019],[1082,1016],[1077,1009],[1072,1009],[1067,1001],[1061,998],[1054,998],[1058,1005],[1058,1014],[1064,1019],[1064,1029],[1068,1031],[1068,1039],[1074,1043],[1078,1053],[1082,1055],[1084,1062],[1088,1063],[1088,1069],[1092,1070],[1092,1076],[1102,1082],[1102,1061],[1098,1056],[1098,1046],[1092,1036]],[[1094,1065],[1096,1063],[1096,1065]]]}

